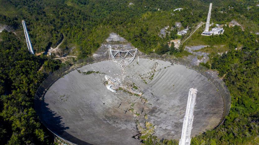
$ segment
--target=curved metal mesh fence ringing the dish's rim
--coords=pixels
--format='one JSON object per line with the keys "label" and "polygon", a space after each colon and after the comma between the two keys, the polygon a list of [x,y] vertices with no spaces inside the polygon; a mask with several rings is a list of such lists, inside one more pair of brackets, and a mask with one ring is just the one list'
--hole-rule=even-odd
{"label": "curved metal mesh fence ringing the dish's rim", "polygon": [[[145,59],[158,59],[158,60],[162,60],[162,61],[168,61],[171,62],[172,64],[181,64],[184,65],[188,68],[191,68],[193,70],[195,70],[196,72],[202,74],[203,76],[205,76],[206,78],[208,78],[209,81],[211,81],[216,88],[218,89],[219,93],[221,94],[223,101],[224,101],[224,112],[223,112],[223,116],[218,124],[221,125],[224,120],[225,117],[228,115],[230,107],[231,107],[231,96],[229,93],[229,90],[227,88],[227,86],[224,84],[223,81],[221,81],[219,78],[217,77],[213,77],[213,75],[211,73],[207,72],[207,69],[201,65],[195,65],[191,60],[189,59],[184,59],[184,58],[175,58],[173,56],[170,55],[157,55],[157,54],[150,54],[150,55],[145,55],[143,53],[139,53],[136,57],[139,58],[145,58]],[[41,116],[41,105],[44,102],[44,95],[47,92],[47,90],[49,89],[49,87],[54,84],[55,81],[57,81],[60,77],[63,77],[65,74],[80,68],[82,66],[85,66],[87,64],[93,64],[93,63],[97,63],[97,62],[101,62],[101,61],[105,61],[105,60],[110,60],[109,55],[105,54],[105,55],[97,55],[94,57],[88,57],[85,59],[80,59],[76,62],[74,62],[74,64],[72,66],[70,65],[66,65],[62,68],[59,68],[57,71],[55,71],[54,73],[50,74],[49,77],[47,77],[39,86],[38,90],[36,91],[35,94],[35,99],[34,99],[34,105],[35,105],[35,111],[37,112],[38,116],[40,117],[40,119],[42,119]],[[47,126],[45,124],[45,122],[42,122],[45,126]],[[49,129],[51,131],[51,129]],[[55,134],[56,136],[58,136],[59,138],[63,139],[65,142],[69,142],[70,144],[88,144],[78,138],[75,138],[71,135],[68,135],[68,133],[66,133],[65,131],[63,131],[62,134],[57,134],[54,133],[53,131],[51,131],[53,134]],[[73,142],[73,143],[71,143]]]}

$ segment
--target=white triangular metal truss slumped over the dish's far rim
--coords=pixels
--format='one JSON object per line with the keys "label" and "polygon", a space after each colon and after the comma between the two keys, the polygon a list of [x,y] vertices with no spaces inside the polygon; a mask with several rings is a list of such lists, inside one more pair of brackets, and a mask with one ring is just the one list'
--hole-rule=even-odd
{"label": "white triangular metal truss slumped over the dish's far rim", "polygon": [[110,58],[112,58],[112,60],[116,64],[119,64],[120,68],[124,72],[124,68],[134,60],[137,53],[138,53],[137,48],[127,50],[127,51],[110,49]]}

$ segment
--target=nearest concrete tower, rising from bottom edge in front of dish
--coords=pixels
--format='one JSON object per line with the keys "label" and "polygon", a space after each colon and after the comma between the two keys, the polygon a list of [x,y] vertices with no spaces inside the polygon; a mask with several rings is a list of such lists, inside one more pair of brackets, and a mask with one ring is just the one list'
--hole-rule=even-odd
{"label": "nearest concrete tower, rising from bottom edge in front of dish", "polygon": [[192,122],[193,122],[193,111],[195,106],[196,94],[197,94],[196,89],[191,88],[189,90],[187,107],[186,107],[186,112],[183,119],[182,134],[181,134],[181,139],[179,140],[179,145],[191,144],[191,129],[192,129]]}

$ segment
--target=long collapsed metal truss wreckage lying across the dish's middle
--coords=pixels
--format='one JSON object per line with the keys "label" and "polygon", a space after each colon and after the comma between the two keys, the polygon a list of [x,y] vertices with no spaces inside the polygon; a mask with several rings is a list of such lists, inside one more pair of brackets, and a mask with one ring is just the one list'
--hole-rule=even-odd
{"label": "long collapsed metal truss wreckage lying across the dish's middle", "polygon": [[112,77],[110,77],[108,75],[105,75],[105,79],[107,81],[110,81],[112,84],[114,84],[115,87],[118,87],[118,88],[121,87],[122,89],[127,90],[127,91],[129,91],[131,93],[142,95],[142,93],[139,90],[134,89],[132,87],[128,87],[128,86],[123,85],[120,82],[120,79],[117,79],[117,78],[114,79],[114,78],[112,78]]}

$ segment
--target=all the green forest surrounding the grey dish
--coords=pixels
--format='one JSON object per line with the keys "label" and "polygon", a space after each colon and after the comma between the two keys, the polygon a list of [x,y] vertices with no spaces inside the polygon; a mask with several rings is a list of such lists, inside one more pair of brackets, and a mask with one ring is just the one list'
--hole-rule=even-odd
{"label": "all the green forest surrounding the grey dish", "polygon": [[[132,2],[133,5],[129,5]],[[177,38],[177,30],[190,32],[207,18],[213,2],[211,22],[224,25],[222,35],[202,37],[204,25],[179,49],[167,42]],[[259,143],[259,4],[258,1],[214,0],[1,0],[0,24],[12,32],[0,33],[0,144],[53,144],[54,137],[41,124],[34,110],[34,95],[41,82],[65,64],[55,56],[31,55],[21,20],[35,53],[56,47],[77,59],[91,56],[114,32],[144,53],[184,57],[184,46],[224,45],[228,53],[210,51],[205,65],[219,72],[231,94],[231,109],[222,125],[192,138],[191,144]],[[173,11],[176,8],[182,11]],[[228,27],[232,20],[240,26]],[[181,28],[175,26],[181,23]],[[160,29],[174,28],[165,37]],[[240,48],[240,49],[236,49]],[[144,144],[178,144],[150,136]],[[122,143],[123,144],[123,143]]]}

